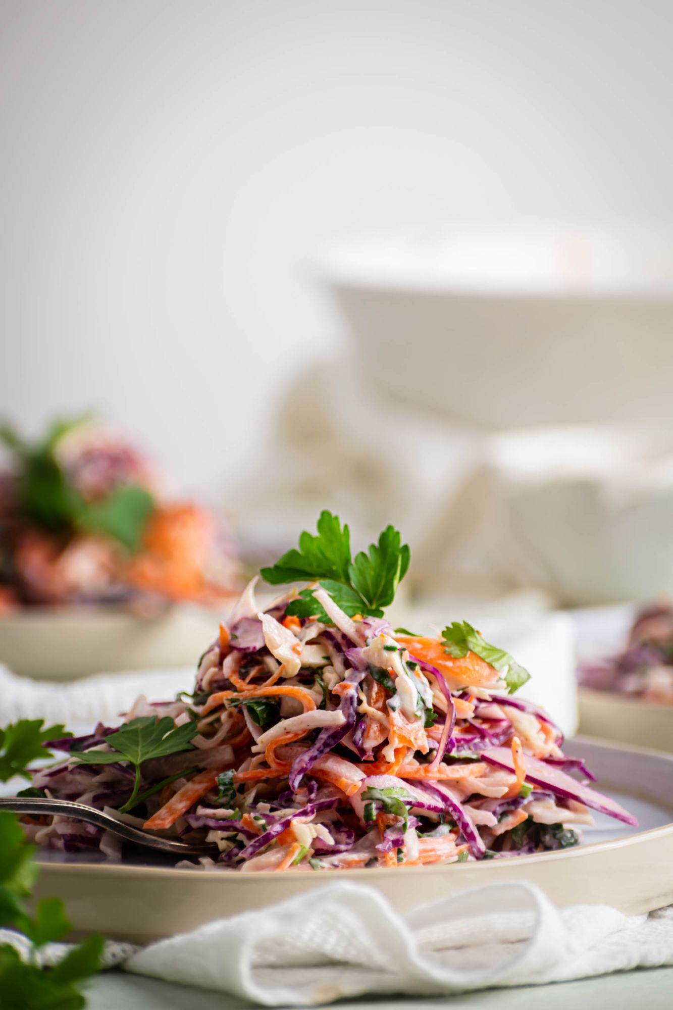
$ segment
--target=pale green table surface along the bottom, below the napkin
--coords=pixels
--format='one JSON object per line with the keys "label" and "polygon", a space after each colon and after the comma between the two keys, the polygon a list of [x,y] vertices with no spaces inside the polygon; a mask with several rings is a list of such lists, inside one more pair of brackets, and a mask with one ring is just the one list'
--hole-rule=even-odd
{"label": "pale green table surface along the bottom, below the napkin", "polygon": [[[223,993],[158,982],[124,972],[99,975],[89,989],[89,1010],[250,1010],[253,1004]],[[522,989],[490,989],[468,996],[411,1000],[349,1000],[344,1010],[670,1010],[673,968],[619,972],[598,979]]]}

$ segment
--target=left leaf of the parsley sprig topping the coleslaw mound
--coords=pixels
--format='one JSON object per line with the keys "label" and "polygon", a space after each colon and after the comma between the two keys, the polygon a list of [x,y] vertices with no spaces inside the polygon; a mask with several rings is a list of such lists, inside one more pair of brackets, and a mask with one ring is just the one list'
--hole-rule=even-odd
{"label": "left leaf of the parsley sprig topping the coleslaw mound", "polygon": [[306,530],[299,537],[299,549],[287,550],[273,568],[262,569],[262,578],[272,586],[286,582],[334,579],[348,583],[351,564],[351,532],[342,528],[339,516],[324,509],[317,521],[317,536]]}

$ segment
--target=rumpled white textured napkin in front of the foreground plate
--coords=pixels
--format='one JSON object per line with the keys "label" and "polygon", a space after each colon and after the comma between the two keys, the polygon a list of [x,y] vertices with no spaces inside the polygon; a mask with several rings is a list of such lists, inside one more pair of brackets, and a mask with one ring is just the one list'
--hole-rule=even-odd
{"label": "rumpled white textured napkin in front of the foreground plate", "polygon": [[312,1006],[365,993],[450,995],[672,964],[673,908],[634,917],[602,905],[559,911],[520,883],[400,914],[374,888],[334,881],[154,943],[125,968],[265,1006]]}

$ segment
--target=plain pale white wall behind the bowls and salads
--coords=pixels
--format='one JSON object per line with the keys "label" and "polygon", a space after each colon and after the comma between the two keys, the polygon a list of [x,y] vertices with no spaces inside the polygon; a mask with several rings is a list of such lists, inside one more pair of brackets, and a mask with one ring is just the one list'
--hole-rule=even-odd
{"label": "plain pale white wall behind the bowls and salads", "polygon": [[226,492],[342,338],[324,241],[673,218],[672,27],[670,0],[3,0],[2,412],[98,406]]}

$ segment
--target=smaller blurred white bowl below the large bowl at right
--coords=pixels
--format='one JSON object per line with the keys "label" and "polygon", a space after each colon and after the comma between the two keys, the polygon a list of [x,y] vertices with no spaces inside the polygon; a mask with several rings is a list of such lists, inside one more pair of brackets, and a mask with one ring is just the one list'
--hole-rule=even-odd
{"label": "smaller blurred white bowl below the large bowl at right", "polygon": [[520,584],[576,605],[673,593],[673,430],[507,432],[488,469],[490,535]]}

